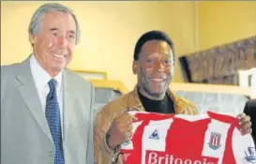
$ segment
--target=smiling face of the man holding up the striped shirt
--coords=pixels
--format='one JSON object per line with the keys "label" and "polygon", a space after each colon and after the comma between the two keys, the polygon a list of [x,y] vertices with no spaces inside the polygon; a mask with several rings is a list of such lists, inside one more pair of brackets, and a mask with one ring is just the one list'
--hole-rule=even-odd
{"label": "smiling face of the man holding up the striped shirt", "polygon": [[133,63],[140,92],[151,99],[161,99],[173,78],[173,51],[161,40],[143,44],[138,61]]}

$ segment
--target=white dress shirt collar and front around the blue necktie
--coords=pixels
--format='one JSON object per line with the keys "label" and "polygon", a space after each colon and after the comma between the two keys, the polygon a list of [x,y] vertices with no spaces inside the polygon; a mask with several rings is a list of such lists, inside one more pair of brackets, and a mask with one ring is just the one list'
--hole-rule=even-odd
{"label": "white dress shirt collar and front around the blue necktie", "polygon": [[34,82],[36,84],[38,90],[38,96],[40,98],[40,102],[42,105],[43,113],[45,113],[46,106],[46,97],[50,92],[50,87],[48,82],[52,79],[57,81],[56,91],[57,91],[57,99],[60,108],[60,116],[61,116],[61,128],[63,134],[63,83],[62,83],[62,74],[63,72],[59,72],[54,78],[52,78],[47,71],[45,71],[39,64],[34,56],[31,55],[30,58],[30,68],[32,72],[32,76],[34,78]]}

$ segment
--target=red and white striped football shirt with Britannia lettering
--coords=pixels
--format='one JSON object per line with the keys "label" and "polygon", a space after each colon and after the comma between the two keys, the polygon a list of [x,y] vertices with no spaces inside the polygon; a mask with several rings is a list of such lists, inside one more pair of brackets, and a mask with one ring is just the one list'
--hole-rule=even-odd
{"label": "red and white striped football shirt with Britannia lettering", "polygon": [[242,136],[230,114],[200,115],[130,112],[131,140],[122,144],[124,164],[256,163],[251,136]]}

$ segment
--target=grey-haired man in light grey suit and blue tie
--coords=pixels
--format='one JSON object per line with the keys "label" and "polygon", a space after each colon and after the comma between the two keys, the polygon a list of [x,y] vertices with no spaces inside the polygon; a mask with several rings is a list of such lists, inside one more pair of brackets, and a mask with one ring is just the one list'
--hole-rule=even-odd
{"label": "grey-haired man in light grey suit and blue tie", "polygon": [[28,32],[32,54],[1,67],[1,163],[91,164],[94,87],[67,68],[80,37],[76,16],[48,3]]}

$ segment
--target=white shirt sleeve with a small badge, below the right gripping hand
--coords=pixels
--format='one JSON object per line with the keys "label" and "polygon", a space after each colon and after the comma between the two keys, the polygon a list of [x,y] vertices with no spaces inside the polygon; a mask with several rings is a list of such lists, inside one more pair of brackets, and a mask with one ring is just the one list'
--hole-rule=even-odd
{"label": "white shirt sleeve with a small badge, below the right gripping hand", "polygon": [[243,136],[237,128],[234,128],[232,144],[235,163],[256,163],[255,144],[250,134]]}

